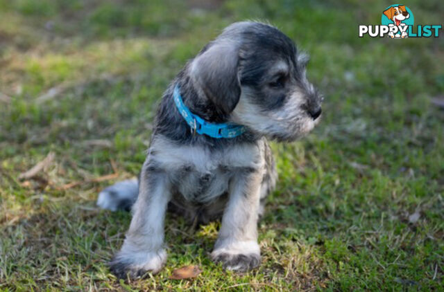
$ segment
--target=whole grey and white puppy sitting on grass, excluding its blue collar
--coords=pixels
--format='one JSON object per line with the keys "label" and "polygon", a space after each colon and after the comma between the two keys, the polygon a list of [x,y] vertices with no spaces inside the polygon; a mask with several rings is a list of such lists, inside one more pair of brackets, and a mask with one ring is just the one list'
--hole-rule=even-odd
{"label": "whole grey and white puppy sitting on grass, excluding its blue collar", "polygon": [[[191,221],[221,218],[211,257],[233,271],[260,262],[257,220],[276,171],[265,137],[291,141],[321,115],[321,96],[305,77],[308,57],[277,28],[258,22],[228,26],[190,60],[165,91],[139,179],[99,194],[101,208],[130,208],[133,219],[110,263],[119,277],[157,273],[167,253],[167,210]],[[194,134],[173,101],[173,89],[207,122],[244,125],[235,138]]]}

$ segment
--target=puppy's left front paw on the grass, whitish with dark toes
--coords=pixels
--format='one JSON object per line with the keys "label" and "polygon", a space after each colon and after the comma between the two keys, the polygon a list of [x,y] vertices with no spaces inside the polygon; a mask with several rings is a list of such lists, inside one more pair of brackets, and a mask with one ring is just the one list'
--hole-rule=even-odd
{"label": "puppy's left front paw on the grass, whitish with dark toes", "polygon": [[146,272],[159,273],[167,260],[167,252],[164,249],[149,253],[117,253],[110,262],[110,271],[125,279],[142,277]]}

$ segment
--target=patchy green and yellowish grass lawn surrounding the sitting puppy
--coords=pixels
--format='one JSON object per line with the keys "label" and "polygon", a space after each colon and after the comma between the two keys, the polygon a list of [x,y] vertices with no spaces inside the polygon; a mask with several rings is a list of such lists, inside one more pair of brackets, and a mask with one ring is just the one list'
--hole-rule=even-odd
{"label": "patchy green and yellowish grass lawn surrounding the sitting puppy", "polygon": [[[0,0],[0,290],[443,291],[444,111],[430,100],[444,91],[444,39],[360,39],[386,6]],[[441,1],[408,6],[418,24],[442,21]],[[262,266],[223,271],[208,257],[219,223],[194,232],[169,217],[163,271],[116,280],[105,263],[130,214],[97,210],[96,194],[139,172],[162,91],[241,19],[296,39],[326,96],[312,134],[272,145]],[[203,273],[168,279],[185,264]]]}

